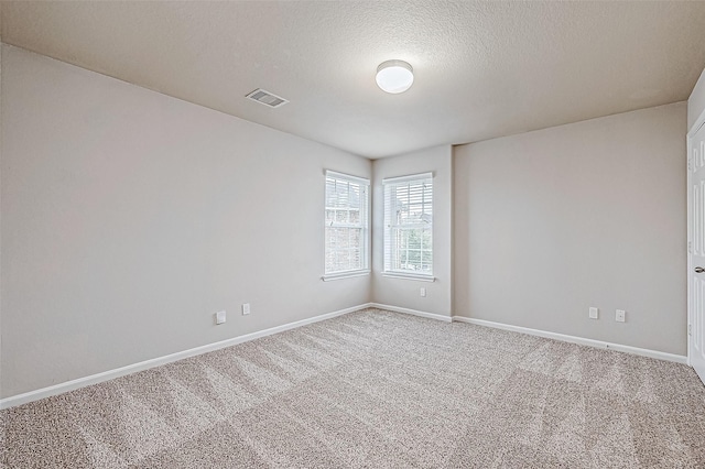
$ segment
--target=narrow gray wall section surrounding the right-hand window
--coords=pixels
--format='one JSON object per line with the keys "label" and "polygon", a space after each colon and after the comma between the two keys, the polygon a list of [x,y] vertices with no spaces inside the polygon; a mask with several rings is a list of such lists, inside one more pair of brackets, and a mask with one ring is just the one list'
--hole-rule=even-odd
{"label": "narrow gray wall section surrounding the right-hand window", "polygon": [[[372,301],[424,313],[451,316],[452,308],[452,200],[453,151],[436,146],[395,157],[376,160],[372,165]],[[382,275],[384,270],[384,199],[382,179],[433,172],[433,283]],[[420,288],[426,296],[420,296]]]}

